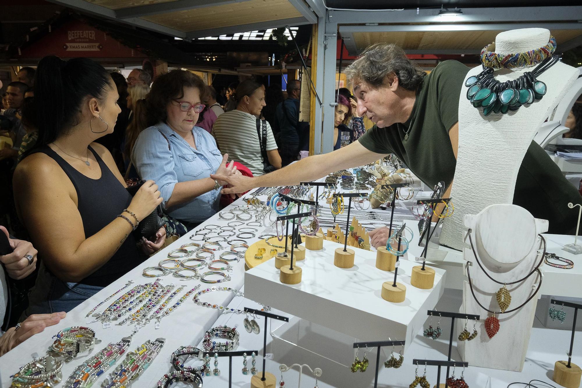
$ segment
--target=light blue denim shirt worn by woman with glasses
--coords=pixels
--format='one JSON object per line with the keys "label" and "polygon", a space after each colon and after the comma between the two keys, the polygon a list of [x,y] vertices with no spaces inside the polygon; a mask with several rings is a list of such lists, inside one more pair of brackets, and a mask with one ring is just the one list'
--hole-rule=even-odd
{"label": "light blue denim shirt worn by woman with glasses", "polygon": [[[152,179],[158,185],[164,208],[176,183],[208,178],[222,162],[222,155],[210,133],[200,127],[193,127],[192,133],[197,149],[190,147],[168,124],[158,123],[143,130],[133,147],[133,165],[141,179]],[[218,212],[219,199],[220,190],[211,190],[166,208],[166,212],[181,221],[202,222]]]}

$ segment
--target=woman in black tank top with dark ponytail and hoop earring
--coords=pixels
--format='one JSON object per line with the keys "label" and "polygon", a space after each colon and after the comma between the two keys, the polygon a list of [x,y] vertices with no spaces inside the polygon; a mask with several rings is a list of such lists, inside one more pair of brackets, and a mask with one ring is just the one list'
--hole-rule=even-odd
{"label": "woman in black tank top with dark ponytail and hoop earring", "polygon": [[[120,112],[111,75],[86,58],[40,60],[31,124],[38,140],[14,174],[20,219],[42,259],[26,315],[70,311],[142,261],[132,233],[162,201],[154,181],[126,190],[107,148]],[[164,243],[144,241],[151,254]]]}

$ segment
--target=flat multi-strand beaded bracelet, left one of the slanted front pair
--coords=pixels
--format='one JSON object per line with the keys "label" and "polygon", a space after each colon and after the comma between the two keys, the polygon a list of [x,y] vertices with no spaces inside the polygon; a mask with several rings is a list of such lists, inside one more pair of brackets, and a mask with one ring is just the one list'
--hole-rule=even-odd
{"label": "flat multi-strand beaded bracelet, left one of the slanted front pair", "polygon": [[118,358],[125,353],[132,342],[132,338],[124,337],[118,343],[110,343],[102,348],[93,357],[87,359],[83,364],[77,366],[73,373],[65,381],[65,388],[86,388],[93,385],[109,366],[115,364]]}

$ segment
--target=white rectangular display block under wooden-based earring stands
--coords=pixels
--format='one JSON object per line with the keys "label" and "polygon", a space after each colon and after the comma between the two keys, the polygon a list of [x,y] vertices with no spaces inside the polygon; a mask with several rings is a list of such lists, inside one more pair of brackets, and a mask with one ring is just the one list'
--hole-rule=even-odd
{"label": "white rectangular display block under wooden-based earring stands", "polygon": [[409,343],[423,325],[427,311],[442,295],[445,271],[436,269],[434,287],[421,290],[410,284],[412,267],[401,261],[398,282],[406,285],[401,303],[381,297],[382,283],[394,279],[393,272],[375,267],[374,252],[353,248],[353,268],[333,265],[333,252],[343,246],[324,241],[324,249],[306,251],[301,283],[289,286],[279,282],[279,270],[267,261],[246,272],[246,297],[362,341],[406,340]]}

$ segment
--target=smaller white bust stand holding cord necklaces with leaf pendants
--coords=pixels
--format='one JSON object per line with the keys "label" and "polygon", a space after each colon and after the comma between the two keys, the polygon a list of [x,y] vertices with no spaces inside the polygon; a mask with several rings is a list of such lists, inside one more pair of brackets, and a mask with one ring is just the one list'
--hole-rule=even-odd
{"label": "smaller white bust stand holding cord necklaces with leaf pendants", "polygon": [[[509,309],[520,304],[537,291],[538,279],[535,267],[540,263],[542,241],[538,234],[548,230],[548,221],[536,219],[524,208],[517,205],[490,205],[477,215],[465,215],[464,226],[471,230],[475,252],[489,276],[498,282],[514,282],[526,277],[522,282],[506,287],[512,297]],[[467,243],[469,236],[467,233]],[[469,282],[463,284],[463,303],[460,314],[479,314],[485,318],[492,316],[481,308],[475,298],[491,311],[499,311],[496,294],[501,284],[493,282],[487,273],[475,262],[470,247],[463,250],[468,262],[473,284],[473,294]],[[528,274],[533,275],[528,276]],[[484,368],[519,371],[523,368],[537,298],[532,298],[517,311],[498,314],[499,331],[489,338],[485,329],[479,330],[474,340],[459,341],[457,347],[463,361]],[[461,328],[457,330],[461,331]]]}

